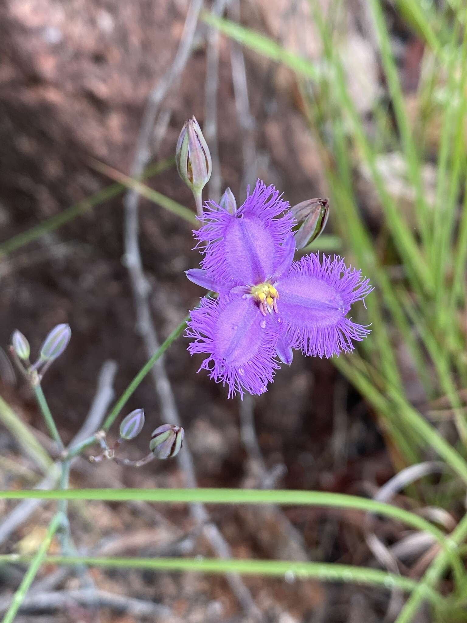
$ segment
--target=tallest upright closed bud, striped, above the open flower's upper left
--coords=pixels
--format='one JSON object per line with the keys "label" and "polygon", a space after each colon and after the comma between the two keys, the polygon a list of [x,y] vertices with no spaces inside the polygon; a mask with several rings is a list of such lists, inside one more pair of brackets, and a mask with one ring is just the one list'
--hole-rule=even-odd
{"label": "tallest upright closed bud, striped, above the open flower's upper left", "polygon": [[209,148],[194,117],[182,128],[175,151],[177,171],[193,193],[199,193],[212,173]]}

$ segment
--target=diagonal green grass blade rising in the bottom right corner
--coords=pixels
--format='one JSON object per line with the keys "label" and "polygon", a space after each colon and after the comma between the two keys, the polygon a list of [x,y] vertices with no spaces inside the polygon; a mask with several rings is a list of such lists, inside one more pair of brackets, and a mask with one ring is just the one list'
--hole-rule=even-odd
{"label": "diagonal green grass blade rising in the bottom right corner", "polygon": [[[455,530],[450,536],[451,549],[456,549],[467,538],[467,514],[463,516],[462,520],[458,523]],[[422,602],[427,599],[428,592],[433,589],[438,583],[443,573],[446,571],[448,564],[446,551],[442,551],[436,556],[433,563],[430,565],[422,580],[417,583],[415,591],[407,600],[407,603],[400,611],[395,623],[411,623],[416,616]]]}

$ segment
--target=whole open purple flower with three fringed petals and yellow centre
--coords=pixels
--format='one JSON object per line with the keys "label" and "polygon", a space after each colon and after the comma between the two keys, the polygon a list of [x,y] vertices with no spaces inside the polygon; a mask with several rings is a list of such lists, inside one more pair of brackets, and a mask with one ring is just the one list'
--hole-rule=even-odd
{"label": "whole open purple flower with three fringed petals and yellow centre", "polygon": [[318,254],[293,262],[289,204],[258,180],[235,214],[214,202],[194,232],[204,258],[187,277],[219,293],[191,312],[188,350],[207,353],[200,369],[236,392],[262,394],[292,349],[331,357],[354,349],[369,330],[347,318],[372,288],[361,272]]}

